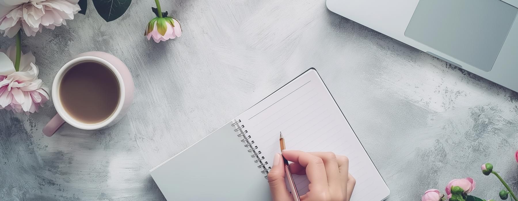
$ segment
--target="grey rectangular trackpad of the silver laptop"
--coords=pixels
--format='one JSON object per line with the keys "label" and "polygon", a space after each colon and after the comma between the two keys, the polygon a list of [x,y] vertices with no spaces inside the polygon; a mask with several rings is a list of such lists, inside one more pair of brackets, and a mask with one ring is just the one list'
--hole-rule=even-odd
{"label": "grey rectangular trackpad of the silver laptop", "polygon": [[405,36],[489,72],[517,13],[499,0],[420,0]]}

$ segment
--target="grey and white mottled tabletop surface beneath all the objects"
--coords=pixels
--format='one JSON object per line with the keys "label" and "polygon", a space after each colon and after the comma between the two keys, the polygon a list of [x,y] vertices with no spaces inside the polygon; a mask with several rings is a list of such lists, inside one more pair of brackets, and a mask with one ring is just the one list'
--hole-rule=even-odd
{"label": "grey and white mottled tabletop surface beneath all the objects", "polygon": [[[133,1],[106,23],[93,9],[23,38],[51,85],[72,56],[104,51],[130,68],[130,113],[102,131],[41,129],[49,102],[29,116],[0,111],[0,200],[163,200],[148,171],[315,67],[392,190],[420,200],[454,178],[498,198],[495,169],[518,190],[518,95],[328,11],[318,1],[162,1],[183,36],[142,36],[153,1]],[[14,40],[0,38],[0,48]],[[252,195],[251,195],[252,196]]]}

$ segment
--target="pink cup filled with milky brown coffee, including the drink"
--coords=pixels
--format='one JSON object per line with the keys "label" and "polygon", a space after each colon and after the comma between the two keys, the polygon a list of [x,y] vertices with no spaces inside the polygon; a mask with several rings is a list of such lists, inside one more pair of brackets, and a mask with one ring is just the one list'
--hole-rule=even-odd
{"label": "pink cup filled with milky brown coffee, including the drink", "polygon": [[66,63],[52,84],[57,114],[43,133],[52,136],[64,123],[83,130],[113,126],[130,109],[134,83],[130,70],[117,57],[85,52]]}

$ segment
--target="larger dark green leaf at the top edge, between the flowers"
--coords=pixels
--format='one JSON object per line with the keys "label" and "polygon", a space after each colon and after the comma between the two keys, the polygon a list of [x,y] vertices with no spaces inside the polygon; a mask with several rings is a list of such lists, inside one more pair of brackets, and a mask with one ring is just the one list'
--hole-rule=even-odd
{"label": "larger dark green leaf at the top edge, between the flowers", "polygon": [[95,10],[106,22],[121,17],[130,7],[131,0],[92,0]]}

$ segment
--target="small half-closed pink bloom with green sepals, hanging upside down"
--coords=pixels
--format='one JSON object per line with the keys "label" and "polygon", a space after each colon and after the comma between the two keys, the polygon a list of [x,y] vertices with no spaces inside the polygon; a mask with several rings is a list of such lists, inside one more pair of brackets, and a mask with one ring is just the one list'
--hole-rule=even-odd
{"label": "small half-closed pink bloom with green sepals, hanging upside down", "polygon": [[153,38],[155,42],[166,41],[180,37],[182,35],[182,28],[180,27],[180,22],[174,18],[156,17],[149,21],[144,35],[148,37],[148,40]]}

